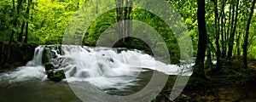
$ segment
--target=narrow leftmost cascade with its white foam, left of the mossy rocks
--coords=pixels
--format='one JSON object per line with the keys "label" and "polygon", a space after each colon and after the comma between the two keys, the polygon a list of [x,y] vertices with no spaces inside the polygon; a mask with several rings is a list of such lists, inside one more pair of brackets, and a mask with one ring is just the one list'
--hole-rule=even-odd
{"label": "narrow leftmost cascade with its white foam, left of the mossy rocks", "polygon": [[25,82],[32,79],[45,80],[44,66],[42,65],[44,47],[35,48],[34,56],[25,66],[18,67],[15,71],[0,73],[0,85],[9,86],[15,82]]}

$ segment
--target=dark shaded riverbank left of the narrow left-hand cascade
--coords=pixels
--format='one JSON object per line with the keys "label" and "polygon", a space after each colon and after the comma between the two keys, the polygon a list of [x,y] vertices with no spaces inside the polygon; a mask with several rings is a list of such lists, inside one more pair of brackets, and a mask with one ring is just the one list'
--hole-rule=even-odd
{"label": "dark shaded riverbank left of the narrow left-hand cascade", "polygon": [[32,43],[12,43],[9,46],[8,42],[1,42],[0,72],[14,70],[19,66],[26,65],[32,59],[37,46],[37,44]]}

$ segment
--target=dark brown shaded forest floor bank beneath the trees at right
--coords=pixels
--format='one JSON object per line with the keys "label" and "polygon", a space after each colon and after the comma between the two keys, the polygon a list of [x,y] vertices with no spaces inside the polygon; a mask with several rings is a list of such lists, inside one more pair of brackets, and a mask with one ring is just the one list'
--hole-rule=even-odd
{"label": "dark brown shaded forest floor bank beneath the trees at right", "polygon": [[190,77],[188,85],[175,101],[256,101],[256,60],[249,60],[248,66],[247,70],[222,67],[217,75],[207,73],[207,82]]}

